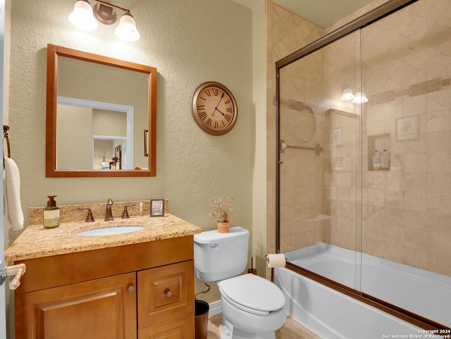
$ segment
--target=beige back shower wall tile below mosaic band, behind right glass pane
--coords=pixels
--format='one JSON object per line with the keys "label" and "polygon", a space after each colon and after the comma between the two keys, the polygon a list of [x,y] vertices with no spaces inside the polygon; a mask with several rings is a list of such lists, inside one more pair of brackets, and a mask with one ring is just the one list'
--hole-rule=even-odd
{"label": "beige back shower wall tile below mosaic band, behind right glass pane", "polygon": [[390,135],[391,166],[364,176],[364,252],[451,275],[451,87],[399,94],[366,109],[366,135]]}

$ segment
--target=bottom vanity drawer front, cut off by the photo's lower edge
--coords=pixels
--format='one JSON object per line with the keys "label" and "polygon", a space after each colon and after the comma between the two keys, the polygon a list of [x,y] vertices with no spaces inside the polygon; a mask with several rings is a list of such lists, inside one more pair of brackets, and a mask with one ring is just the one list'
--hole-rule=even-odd
{"label": "bottom vanity drawer front, cut off by the photo's lower edge", "polygon": [[138,339],[194,339],[193,314],[183,314],[138,330]]}

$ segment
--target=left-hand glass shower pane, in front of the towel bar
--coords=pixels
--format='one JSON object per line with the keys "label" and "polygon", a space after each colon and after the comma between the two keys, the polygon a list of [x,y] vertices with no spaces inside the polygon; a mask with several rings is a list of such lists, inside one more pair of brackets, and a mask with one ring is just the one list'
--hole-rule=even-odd
{"label": "left-hand glass shower pane, in front of the towel bar", "polygon": [[[360,288],[362,92],[354,32],[280,69],[280,252]],[[346,100],[344,100],[346,99]]]}

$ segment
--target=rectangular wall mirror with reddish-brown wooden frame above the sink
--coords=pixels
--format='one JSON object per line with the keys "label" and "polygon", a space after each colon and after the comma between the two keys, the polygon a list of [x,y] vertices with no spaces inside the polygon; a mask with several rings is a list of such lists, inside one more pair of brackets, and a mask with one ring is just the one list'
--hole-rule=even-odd
{"label": "rectangular wall mirror with reddish-brown wooden frame above the sink", "polygon": [[48,44],[46,178],[151,176],[156,68]]}

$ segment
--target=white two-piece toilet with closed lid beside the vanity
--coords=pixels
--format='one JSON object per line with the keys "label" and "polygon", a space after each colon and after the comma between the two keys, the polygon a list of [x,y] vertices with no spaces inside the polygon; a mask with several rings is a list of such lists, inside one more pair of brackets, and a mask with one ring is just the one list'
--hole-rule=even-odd
{"label": "white two-piece toilet with closed lid beside the vanity", "polygon": [[248,247],[249,231],[241,227],[194,235],[196,276],[218,282],[221,292],[221,339],[275,339],[285,323],[285,296],[275,284],[254,274],[237,276],[247,267]]}

